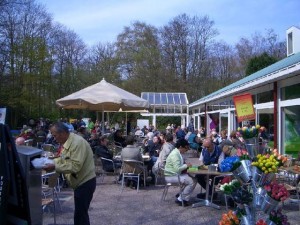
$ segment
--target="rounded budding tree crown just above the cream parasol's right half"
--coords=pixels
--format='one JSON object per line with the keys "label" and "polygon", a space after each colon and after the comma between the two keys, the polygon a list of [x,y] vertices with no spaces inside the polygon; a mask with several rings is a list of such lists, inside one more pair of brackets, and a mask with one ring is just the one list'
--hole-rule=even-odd
{"label": "rounded budding tree crown just above the cream parasol's right half", "polygon": [[118,35],[117,55],[126,86],[141,91],[158,91],[161,62],[157,29],[141,22],[125,27]]}

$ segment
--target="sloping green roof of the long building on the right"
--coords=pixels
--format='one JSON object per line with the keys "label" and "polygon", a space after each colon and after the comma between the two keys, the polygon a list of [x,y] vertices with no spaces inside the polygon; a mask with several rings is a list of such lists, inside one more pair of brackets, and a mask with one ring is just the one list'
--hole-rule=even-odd
{"label": "sloping green roof of the long building on the right", "polygon": [[291,55],[289,57],[286,57],[262,70],[259,70],[247,77],[244,77],[243,79],[241,80],[238,80],[224,88],[221,88],[220,90],[218,91],[215,91],[201,99],[198,99],[197,101],[195,102],[192,102],[190,105],[195,105],[197,103],[200,103],[202,101],[205,101],[206,99],[209,99],[209,98],[212,98],[213,96],[216,96],[216,95],[220,95],[221,93],[223,92],[226,92],[226,91],[229,91],[229,90],[232,90],[234,88],[237,88],[237,87],[240,87],[242,85],[245,85],[251,81],[254,81],[254,80],[257,80],[257,79],[260,79],[260,78],[263,78],[265,76],[267,76],[268,74],[272,74],[274,72],[277,72],[277,71],[280,71],[284,68],[288,68],[294,64],[297,64],[300,62],[300,52],[299,53],[296,53],[294,55]]}

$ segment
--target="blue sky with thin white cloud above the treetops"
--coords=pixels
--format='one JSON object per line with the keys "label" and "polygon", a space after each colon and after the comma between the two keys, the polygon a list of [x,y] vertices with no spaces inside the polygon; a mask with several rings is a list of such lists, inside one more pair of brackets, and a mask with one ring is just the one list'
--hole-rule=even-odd
{"label": "blue sky with thin white cloud above the treetops", "polygon": [[174,17],[209,16],[217,39],[235,44],[255,32],[274,29],[280,40],[291,26],[300,27],[299,0],[36,0],[54,21],[73,30],[88,45],[114,42],[134,21],[157,28]]}

